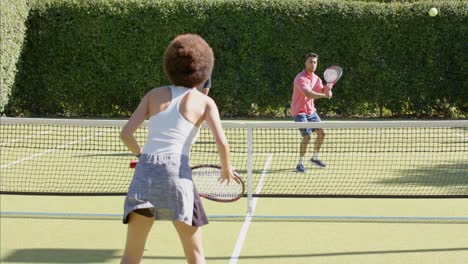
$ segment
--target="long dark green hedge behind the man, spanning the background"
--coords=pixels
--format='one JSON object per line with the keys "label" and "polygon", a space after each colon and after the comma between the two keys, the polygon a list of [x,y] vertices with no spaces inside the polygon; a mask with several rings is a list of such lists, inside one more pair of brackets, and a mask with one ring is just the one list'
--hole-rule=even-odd
{"label": "long dark green hedge behind the man, spanning the background", "polygon": [[[427,11],[437,7],[440,14]],[[467,116],[464,1],[35,1],[11,115],[126,116],[168,83],[164,49],[194,32],[213,47],[223,116],[280,116],[308,52],[344,76],[319,111]]]}

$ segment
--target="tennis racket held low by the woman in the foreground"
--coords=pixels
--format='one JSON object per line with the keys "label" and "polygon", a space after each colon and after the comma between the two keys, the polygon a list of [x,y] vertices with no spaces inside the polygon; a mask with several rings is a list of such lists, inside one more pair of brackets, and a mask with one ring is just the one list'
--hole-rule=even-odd
{"label": "tennis racket held low by the woman in the foreground", "polygon": [[[132,160],[130,168],[135,168],[138,161]],[[244,181],[234,172],[234,179],[221,183],[219,175],[221,167],[218,165],[197,165],[192,167],[192,179],[201,197],[215,202],[235,202],[239,200],[245,192]]]}

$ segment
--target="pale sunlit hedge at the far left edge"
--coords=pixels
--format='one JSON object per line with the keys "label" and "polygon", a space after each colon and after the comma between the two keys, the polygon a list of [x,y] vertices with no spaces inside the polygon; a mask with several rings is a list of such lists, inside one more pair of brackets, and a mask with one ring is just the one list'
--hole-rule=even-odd
{"label": "pale sunlit hedge at the far left edge", "polygon": [[0,1],[0,113],[10,97],[23,48],[25,21],[29,11],[26,1]]}

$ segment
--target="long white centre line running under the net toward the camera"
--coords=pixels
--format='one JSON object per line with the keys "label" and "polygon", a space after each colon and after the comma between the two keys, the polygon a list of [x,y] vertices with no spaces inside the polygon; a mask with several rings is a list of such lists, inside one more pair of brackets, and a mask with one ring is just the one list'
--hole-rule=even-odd
{"label": "long white centre line running under the net toward the camera", "polygon": [[[270,166],[270,162],[272,158],[273,158],[273,155],[269,154],[265,162],[265,166],[263,167],[262,176],[260,177],[260,180],[258,181],[257,189],[255,190],[255,193],[260,193],[262,191],[263,181],[265,180],[267,170],[268,170],[268,167]],[[242,246],[244,245],[245,237],[247,236],[247,231],[249,230],[250,223],[252,222],[252,217],[255,213],[255,207],[257,207],[257,199],[258,197],[255,197],[252,199],[252,212],[247,213],[247,215],[245,216],[245,221],[244,221],[244,224],[242,225],[241,231],[239,233],[239,237],[237,238],[236,246],[234,248],[234,251],[232,252],[231,259],[229,260],[229,264],[236,264],[237,261],[239,260],[239,255],[242,250]]]}

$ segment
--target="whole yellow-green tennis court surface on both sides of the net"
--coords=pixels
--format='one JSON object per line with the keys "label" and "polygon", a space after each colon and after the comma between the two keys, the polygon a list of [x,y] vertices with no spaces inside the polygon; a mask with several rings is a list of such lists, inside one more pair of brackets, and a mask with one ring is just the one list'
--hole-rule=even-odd
{"label": "whole yellow-green tennis court surface on both sides of the net", "polygon": [[[126,226],[117,194],[132,174],[132,157],[116,140],[120,125],[60,122],[0,126],[1,191],[62,194],[1,195],[2,263],[119,262]],[[246,182],[251,177],[251,197],[229,204],[204,200],[211,222],[204,228],[208,263],[468,259],[465,123],[374,128],[323,122],[329,126],[322,154],[328,167],[309,166],[305,174],[294,171],[294,124],[247,123],[224,126],[235,166]],[[216,162],[203,130],[192,164]],[[81,196],[90,193],[105,196]],[[143,263],[183,262],[171,224],[156,223]]]}

